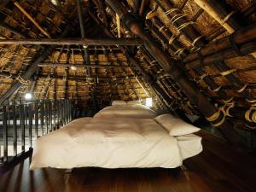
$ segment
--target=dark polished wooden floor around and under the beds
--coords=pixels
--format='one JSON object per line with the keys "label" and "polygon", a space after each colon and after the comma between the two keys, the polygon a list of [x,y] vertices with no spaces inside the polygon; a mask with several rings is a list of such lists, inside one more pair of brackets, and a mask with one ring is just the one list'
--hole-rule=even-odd
{"label": "dark polished wooden floor around and under the beds", "polygon": [[204,151],[185,160],[183,169],[28,170],[29,158],[0,176],[0,191],[44,192],[255,192],[256,159],[234,152],[206,132]]}

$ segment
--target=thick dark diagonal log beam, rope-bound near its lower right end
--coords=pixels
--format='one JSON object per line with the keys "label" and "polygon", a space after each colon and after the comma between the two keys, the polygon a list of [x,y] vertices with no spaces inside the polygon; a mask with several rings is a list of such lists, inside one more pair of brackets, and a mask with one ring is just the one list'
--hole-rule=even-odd
{"label": "thick dark diagonal log beam, rope-bound near its lower right end", "polygon": [[159,62],[160,66],[169,73],[170,76],[177,84],[183,89],[189,100],[199,108],[202,114],[212,123],[212,125],[218,126],[223,133],[226,140],[230,143],[242,146],[241,138],[236,134],[236,130],[225,119],[225,115],[222,111],[215,108],[207,98],[196,89],[195,84],[189,82],[186,79],[186,75],[182,69],[177,67],[175,61],[172,61],[161,49],[159,44],[154,42],[143,27],[137,22],[137,20],[116,0],[106,0],[108,5],[119,15],[123,24],[131,30],[137,37],[142,38],[145,44],[145,48],[148,52],[154,56],[154,59]]}

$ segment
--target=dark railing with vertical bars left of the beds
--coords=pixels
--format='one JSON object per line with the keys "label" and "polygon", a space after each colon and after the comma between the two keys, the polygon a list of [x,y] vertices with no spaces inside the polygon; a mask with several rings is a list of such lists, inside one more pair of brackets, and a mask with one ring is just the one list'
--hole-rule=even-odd
{"label": "dark railing with vertical bars left of the beds", "polygon": [[0,165],[31,151],[34,141],[72,120],[69,100],[33,100],[0,106]]}

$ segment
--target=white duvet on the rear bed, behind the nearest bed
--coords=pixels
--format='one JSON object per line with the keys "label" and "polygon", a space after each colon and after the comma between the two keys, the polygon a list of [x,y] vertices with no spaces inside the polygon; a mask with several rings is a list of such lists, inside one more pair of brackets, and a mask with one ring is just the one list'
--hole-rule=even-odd
{"label": "white duvet on the rear bed, behind the nearest bed", "polygon": [[106,118],[140,118],[140,119],[154,119],[157,116],[153,110],[147,107],[107,107],[96,113],[94,117]]}

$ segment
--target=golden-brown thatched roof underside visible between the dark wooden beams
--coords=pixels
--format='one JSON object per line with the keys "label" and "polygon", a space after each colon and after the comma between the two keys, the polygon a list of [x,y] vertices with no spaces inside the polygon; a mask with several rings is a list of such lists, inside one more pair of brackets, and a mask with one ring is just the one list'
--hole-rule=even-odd
{"label": "golden-brown thatched roof underside visible between the dark wooden beams", "polygon": [[[20,9],[18,9],[12,1],[7,2],[8,3],[3,3],[3,5],[0,6],[1,23],[4,26],[15,29],[15,31],[20,32],[20,34],[11,32],[7,27],[1,25],[0,38],[47,38],[38,30],[38,27],[35,26],[31,20],[28,20],[27,17],[20,12]],[[61,32],[63,32],[65,27],[70,23],[72,23],[74,27],[73,32],[70,32],[68,38],[80,38],[76,1],[20,0],[18,2],[46,32],[49,32],[51,38],[59,38]],[[55,6],[51,2],[58,2],[60,4]],[[135,7],[134,3],[137,1],[124,0],[121,2],[125,4],[127,9],[133,12]],[[202,10],[201,15],[195,18],[195,15],[198,14],[201,8],[194,0],[170,0],[170,2],[172,2],[173,8],[180,9],[180,11],[185,14],[184,17],[187,20],[194,20],[192,25],[207,39],[207,44],[230,34],[204,10]],[[242,10],[252,2],[253,0],[226,1],[230,8],[236,11],[236,16],[243,15]],[[116,15],[105,1],[82,1],[82,6],[86,38],[107,37],[101,26],[98,26],[95,20],[91,18],[89,11],[108,27],[108,30],[113,33],[114,37],[118,37]],[[193,49],[191,50],[191,47],[193,48],[192,42],[180,33],[177,27],[172,25],[172,21],[166,16],[165,12],[157,6],[154,0],[145,1],[143,13],[141,13],[140,16],[137,14],[138,20],[143,20],[145,23],[144,28],[154,37],[155,41],[162,44],[162,49],[166,51],[166,54],[170,55],[170,57],[174,58],[176,61],[180,61],[181,55],[179,52],[174,52],[167,46],[168,40],[157,37],[156,34],[150,30],[151,19],[145,20],[145,17],[148,15],[148,12],[152,10],[156,10],[153,18],[160,20],[160,22],[166,26],[164,30],[172,32],[184,49],[193,51]],[[149,24],[147,23],[148,21]],[[244,22],[248,24],[255,22],[255,14],[244,17]],[[120,37],[135,38],[122,23],[120,26]],[[3,96],[5,92],[19,80],[19,77],[26,72],[27,67],[32,65],[33,58],[37,56],[44,47],[46,46],[1,45],[0,96]],[[131,49],[139,65],[144,68],[146,73],[157,77],[159,79],[157,84],[172,98],[172,103],[166,103],[167,106],[172,105],[172,108],[179,108],[184,113],[201,115],[195,105],[189,102],[183,90],[177,86],[168,74],[163,72],[157,61],[150,63],[140,47],[132,46]],[[151,89],[148,82],[142,78],[142,74],[138,72],[136,67],[131,65],[131,61],[125,57],[119,46],[89,46],[88,52],[92,65],[116,66],[90,67],[90,75],[88,68],[84,67],[83,51],[84,48],[80,45],[57,46],[49,57],[41,63],[42,67],[39,67],[38,72],[33,76],[32,80],[23,82],[24,85],[9,99],[20,99],[20,96],[24,96],[26,91],[34,86],[34,94],[38,99],[69,98],[85,106],[91,103],[93,95],[96,96],[98,103],[105,103],[106,105],[115,99],[136,100],[138,98],[153,96],[156,108],[166,108],[163,102],[160,101],[159,96],[156,96],[156,93]],[[230,69],[234,69],[233,74],[242,84],[247,84],[245,89],[252,95],[255,95],[256,60],[253,55],[237,56],[236,58],[224,62]],[[68,66],[47,66],[55,63],[70,66],[75,65],[76,68]],[[219,89],[222,89],[228,96],[234,97],[236,106],[241,108],[247,106],[246,97],[243,96],[242,93],[237,92],[234,88],[234,84],[231,84],[225,76],[221,75],[216,67],[208,65],[207,67],[203,67],[203,70],[208,76],[211,76],[215,84],[218,84]],[[216,91],[209,89],[209,85],[200,79],[201,75],[195,73],[195,70],[184,71],[187,78],[194,81],[198,89],[201,90],[209,100],[216,104],[221,103],[223,98],[218,96]],[[4,75],[1,76],[1,74]]]}

